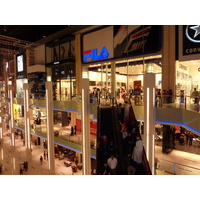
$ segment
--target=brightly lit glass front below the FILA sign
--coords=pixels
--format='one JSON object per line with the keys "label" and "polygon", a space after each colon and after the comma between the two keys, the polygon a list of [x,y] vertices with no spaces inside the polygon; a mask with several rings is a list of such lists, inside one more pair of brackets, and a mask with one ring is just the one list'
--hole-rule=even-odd
{"label": "brightly lit glass front below the FILA sign", "polygon": [[130,97],[136,93],[139,96],[143,95],[145,73],[155,73],[156,88],[161,89],[160,55],[116,61],[114,65],[113,63],[91,65],[88,67],[90,94],[103,99],[109,99],[114,94],[118,102],[124,103],[127,96]]}

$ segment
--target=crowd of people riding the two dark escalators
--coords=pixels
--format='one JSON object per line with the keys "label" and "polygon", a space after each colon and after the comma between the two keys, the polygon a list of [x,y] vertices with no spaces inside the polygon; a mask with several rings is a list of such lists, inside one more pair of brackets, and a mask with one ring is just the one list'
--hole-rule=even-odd
{"label": "crowd of people riding the two dark escalators", "polygon": [[124,105],[118,105],[118,121],[121,132],[121,142],[123,146],[124,159],[118,160],[114,141],[109,141],[108,137],[103,134],[100,137],[98,150],[100,160],[103,160],[100,168],[100,175],[117,175],[119,162],[123,162],[128,175],[141,173],[143,142],[139,134],[138,123],[131,118],[130,105],[125,101]]}

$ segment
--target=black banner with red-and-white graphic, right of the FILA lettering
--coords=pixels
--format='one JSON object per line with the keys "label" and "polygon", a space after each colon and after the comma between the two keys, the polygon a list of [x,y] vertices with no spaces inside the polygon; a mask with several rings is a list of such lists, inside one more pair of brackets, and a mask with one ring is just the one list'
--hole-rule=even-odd
{"label": "black banner with red-and-white graphic, right of the FILA lettering", "polygon": [[161,27],[153,25],[114,26],[114,57],[142,55],[159,51]]}

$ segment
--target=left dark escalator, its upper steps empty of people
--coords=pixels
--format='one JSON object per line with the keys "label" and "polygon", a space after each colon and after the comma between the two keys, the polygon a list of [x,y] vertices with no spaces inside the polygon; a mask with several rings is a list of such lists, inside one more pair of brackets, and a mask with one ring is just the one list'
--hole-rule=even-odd
{"label": "left dark escalator, its upper steps empty of people", "polygon": [[[114,154],[118,161],[117,174],[126,174],[124,166],[123,154],[123,139],[120,133],[118,123],[118,116],[115,106],[99,106],[98,107],[98,129],[97,129],[97,156],[96,156],[96,170],[97,174],[101,174],[101,169],[107,159],[110,157],[111,152],[102,143],[108,144],[113,141],[115,150]],[[107,140],[107,141],[106,141]],[[103,142],[102,142],[103,141]]]}

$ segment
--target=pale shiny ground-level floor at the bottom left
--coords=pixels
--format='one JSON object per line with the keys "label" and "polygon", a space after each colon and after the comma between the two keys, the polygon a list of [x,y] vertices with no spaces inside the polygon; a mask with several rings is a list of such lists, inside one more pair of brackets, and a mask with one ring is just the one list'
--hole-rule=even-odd
{"label": "pale shiny ground-level floor at the bottom left", "polygon": [[[40,155],[43,155],[42,146],[32,145],[32,156],[26,159],[25,146],[21,139],[15,140],[15,147],[9,144],[10,138],[4,134],[3,144],[0,146],[0,163],[3,164],[2,175],[19,175],[19,165],[24,161],[28,161],[28,171],[24,175],[49,175],[47,160],[43,160],[40,164]],[[64,166],[64,160],[55,158],[55,175],[72,175],[71,167]],[[74,175],[82,175],[82,170],[74,173]]]}

